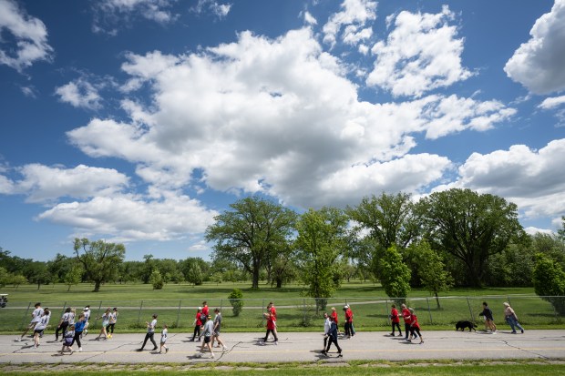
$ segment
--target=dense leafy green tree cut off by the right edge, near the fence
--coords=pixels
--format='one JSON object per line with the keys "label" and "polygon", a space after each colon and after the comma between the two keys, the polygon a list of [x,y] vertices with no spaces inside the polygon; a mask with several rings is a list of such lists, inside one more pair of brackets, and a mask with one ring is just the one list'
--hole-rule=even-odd
{"label": "dense leafy green tree cut off by the right edge, near the fence", "polygon": [[558,262],[538,253],[533,272],[534,291],[549,301],[560,314],[565,314],[565,272]]}

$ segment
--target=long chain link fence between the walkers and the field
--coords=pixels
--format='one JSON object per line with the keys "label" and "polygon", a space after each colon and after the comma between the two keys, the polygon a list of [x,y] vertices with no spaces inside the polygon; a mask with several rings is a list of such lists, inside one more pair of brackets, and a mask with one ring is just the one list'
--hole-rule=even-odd
{"label": "long chain link fence between the walkers and the field", "polygon": [[[545,297],[559,298],[565,297]],[[213,310],[219,308],[222,312],[222,328],[226,330],[262,330],[265,312],[271,300],[243,299],[241,313],[235,316],[232,312],[229,299],[209,299],[208,306],[213,316]],[[522,325],[550,325],[561,323],[563,315],[553,309],[549,301],[537,295],[491,295],[491,296],[454,296],[430,298],[411,298],[406,300],[406,305],[413,308],[418,321],[422,325],[453,326],[458,320],[470,320],[481,328],[483,319],[479,317],[482,311],[482,302],[487,301],[494,312],[495,322],[504,323],[503,302],[508,302],[516,311]],[[146,321],[151,320],[153,314],[159,315],[159,325],[168,324],[171,328],[190,330],[193,327],[197,308],[202,300],[74,300],[74,301],[42,301],[43,308],[52,312],[51,328],[55,328],[67,307],[77,309],[77,316],[86,305],[90,306],[90,328],[100,328],[99,318],[106,309],[118,308],[118,322],[116,328],[136,330],[146,327]],[[355,330],[371,328],[372,330],[388,328],[391,305],[400,307],[400,300],[390,298],[327,298],[310,299],[294,298],[273,300],[277,310],[277,326],[279,330],[285,328],[307,327],[319,329],[323,327],[323,312],[331,312],[334,308],[338,312],[340,326],[344,322],[344,305],[347,304],[354,312]],[[317,304],[316,304],[317,303]],[[34,302],[8,303],[0,309],[0,331],[23,330],[31,319]]]}

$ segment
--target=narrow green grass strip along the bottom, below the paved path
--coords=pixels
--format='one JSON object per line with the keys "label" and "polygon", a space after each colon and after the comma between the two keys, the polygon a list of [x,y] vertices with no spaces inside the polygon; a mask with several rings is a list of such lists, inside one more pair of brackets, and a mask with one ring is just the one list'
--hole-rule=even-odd
{"label": "narrow green grass strip along the bottom, below the paved path", "polygon": [[144,363],[144,364],[100,364],[100,363],[56,363],[56,364],[10,364],[0,363],[3,374],[20,376],[49,374],[99,376],[117,375],[259,375],[268,371],[278,375],[565,375],[565,358],[497,361],[315,361],[290,363],[244,363],[193,364],[193,363]]}

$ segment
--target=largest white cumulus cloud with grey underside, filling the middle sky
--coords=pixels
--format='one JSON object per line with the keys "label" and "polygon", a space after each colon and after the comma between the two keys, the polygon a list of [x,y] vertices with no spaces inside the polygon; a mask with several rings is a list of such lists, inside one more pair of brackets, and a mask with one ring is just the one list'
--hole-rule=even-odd
{"label": "largest white cumulus cloud with grey underside, filling the middle sky", "polygon": [[89,156],[135,164],[159,189],[198,183],[299,207],[351,203],[379,189],[416,190],[450,162],[408,155],[414,134],[480,131],[514,111],[457,96],[360,101],[344,63],[324,52],[308,27],[276,39],[243,32],[237,42],[198,54],[127,59],[122,69],[149,86],[153,102],[126,98],[131,121],[94,118],[67,136]]}

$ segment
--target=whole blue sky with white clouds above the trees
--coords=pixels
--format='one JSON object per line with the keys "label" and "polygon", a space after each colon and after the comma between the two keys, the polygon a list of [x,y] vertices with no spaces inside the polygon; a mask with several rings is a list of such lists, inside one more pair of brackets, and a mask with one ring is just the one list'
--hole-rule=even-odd
{"label": "whole blue sky with white clouds above the trees", "polygon": [[565,0],[0,0],[0,247],[211,258],[297,212],[470,188],[565,215]]}

